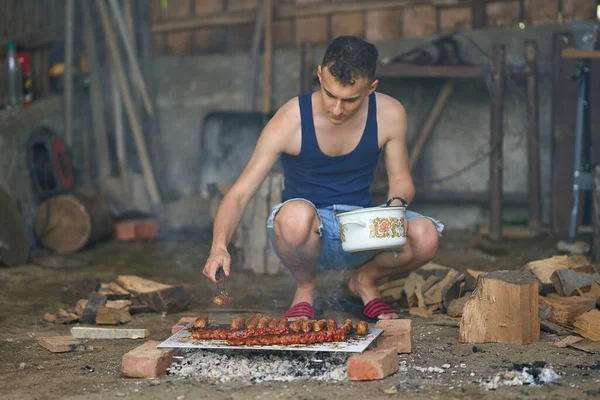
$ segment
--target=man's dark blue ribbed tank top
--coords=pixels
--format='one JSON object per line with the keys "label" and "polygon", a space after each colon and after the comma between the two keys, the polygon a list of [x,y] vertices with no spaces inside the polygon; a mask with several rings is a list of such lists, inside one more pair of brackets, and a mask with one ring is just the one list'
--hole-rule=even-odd
{"label": "man's dark blue ribbed tank top", "polygon": [[370,186],[379,161],[375,93],[362,137],[352,152],[328,156],[319,148],[312,114],[312,93],[298,96],[302,121],[302,145],[297,156],[281,155],[284,172],[282,200],[303,198],[317,208],[333,204],[371,206]]}

